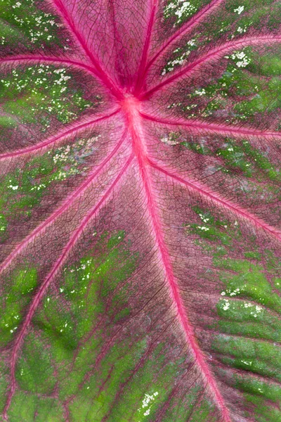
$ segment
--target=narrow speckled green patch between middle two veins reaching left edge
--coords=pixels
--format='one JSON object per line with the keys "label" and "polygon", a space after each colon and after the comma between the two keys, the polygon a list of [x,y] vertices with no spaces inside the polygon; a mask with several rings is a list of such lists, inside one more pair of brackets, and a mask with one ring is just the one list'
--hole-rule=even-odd
{"label": "narrow speckled green patch between middle two veins reaching left edge", "polygon": [[79,139],[38,156],[7,174],[0,187],[0,239],[6,239],[6,230],[15,219],[25,221],[32,210],[61,181],[88,170],[87,159],[95,151],[98,136]]}

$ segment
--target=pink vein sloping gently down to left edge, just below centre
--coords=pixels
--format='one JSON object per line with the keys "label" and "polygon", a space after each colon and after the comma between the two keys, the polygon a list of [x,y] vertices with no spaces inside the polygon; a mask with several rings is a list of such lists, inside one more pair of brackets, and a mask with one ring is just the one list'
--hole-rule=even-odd
{"label": "pink vein sloping gently down to left edge, just below centre", "polygon": [[116,115],[117,113],[119,113],[119,109],[113,111],[112,113],[110,113],[108,115],[100,116],[100,117],[98,117],[97,119],[94,119],[94,120],[89,120],[89,121],[86,121],[86,122],[83,122],[83,123],[77,123],[76,122],[74,124],[71,124],[69,127],[64,129],[63,131],[61,131],[59,134],[57,134],[55,136],[51,136],[50,138],[46,139],[46,141],[43,141],[43,142],[41,142],[37,145],[27,146],[27,148],[22,148],[20,150],[12,151],[11,153],[0,154],[0,160],[3,160],[4,158],[13,158],[13,157],[16,157],[18,155],[31,153],[32,151],[37,151],[37,150],[40,150],[41,148],[45,148],[46,146],[50,145],[51,143],[55,143],[57,141],[63,141],[68,136],[75,134],[75,133],[79,133],[81,130],[86,129],[87,127],[91,127],[93,124],[96,124],[98,122],[102,122],[103,120],[109,119],[110,117]]}

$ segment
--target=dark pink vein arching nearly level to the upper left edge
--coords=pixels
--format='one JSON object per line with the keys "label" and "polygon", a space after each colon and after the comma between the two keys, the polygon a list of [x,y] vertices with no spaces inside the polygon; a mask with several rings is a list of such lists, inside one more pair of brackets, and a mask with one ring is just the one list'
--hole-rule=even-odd
{"label": "dark pink vein arching nearly level to the upper left edge", "polygon": [[55,56],[41,56],[41,55],[25,55],[25,56],[8,56],[6,58],[0,59],[0,65],[5,65],[6,63],[10,63],[10,62],[34,62],[34,63],[61,63],[64,65],[71,65],[74,66],[76,68],[81,68],[83,70],[87,70],[88,72],[96,76],[98,76],[96,69],[93,68],[93,66],[87,65],[86,63],[77,61],[77,60],[72,60],[71,58],[58,58]]}

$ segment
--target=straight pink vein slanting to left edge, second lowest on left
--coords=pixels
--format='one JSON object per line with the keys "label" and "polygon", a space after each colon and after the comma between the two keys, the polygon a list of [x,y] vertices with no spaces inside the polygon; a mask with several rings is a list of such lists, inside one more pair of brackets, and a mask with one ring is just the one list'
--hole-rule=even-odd
{"label": "straight pink vein slanting to left edge, second lowest on left", "polygon": [[74,193],[72,193],[72,195],[70,195],[69,198],[67,198],[65,200],[65,203],[61,207],[59,207],[58,210],[53,212],[53,214],[50,215],[50,217],[48,217],[42,224],[40,224],[36,229],[34,229],[34,231],[32,231],[32,233],[30,235],[28,235],[26,238],[24,238],[23,241],[21,241],[15,247],[15,249],[11,252],[11,254],[8,255],[8,257],[6,257],[6,260],[4,260],[4,262],[2,262],[2,264],[0,265],[0,274],[11,264],[11,262],[15,259],[16,256],[18,256],[18,254],[22,251],[23,248],[25,248],[26,245],[28,245],[30,242],[32,242],[34,240],[34,238],[36,238],[38,236],[38,234],[41,233],[41,231],[46,229],[51,224],[51,222],[53,222],[55,219],[57,219],[61,214],[63,214],[63,212],[68,210],[68,208],[72,205],[74,200],[79,195],[81,195],[84,191],[86,191],[86,188],[89,186],[89,184],[92,181],[94,181],[96,179],[96,177],[98,177],[100,172],[103,170],[103,167],[105,167],[107,162],[109,162],[112,159],[112,157],[117,153],[119,148],[122,146],[122,143],[124,142],[125,137],[126,137],[126,132],[124,132],[123,136],[121,137],[121,139],[119,140],[119,142],[117,143],[117,145],[115,146],[113,151],[98,166],[98,170],[91,173],[89,175],[89,177],[87,177],[87,179],[84,181],[84,183],[81,184],[81,186],[79,186],[79,188],[76,191],[74,191]]}

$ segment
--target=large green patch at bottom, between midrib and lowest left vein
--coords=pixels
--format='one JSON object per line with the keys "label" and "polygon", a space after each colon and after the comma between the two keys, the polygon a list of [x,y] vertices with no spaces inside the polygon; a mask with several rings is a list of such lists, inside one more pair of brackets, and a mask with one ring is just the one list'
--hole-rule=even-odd
{"label": "large green patch at bottom, between midrib and lowest left vein", "polygon": [[[96,231],[93,234],[96,236]],[[57,292],[53,288],[46,292],[32,319],[39,332],[25,338],[18,360],[16,378],[27,397],[34,398],[31,392],[51,395],[56,389],[61,402],[73,395],[67,409],[81,422],[89,418],[100,422],[105,416],[112,422],[156,417],[186,365],[181,353],[170,359],[169,341],[151,347],[148,336],[136,327],[126,335],[133,323],[129,298],[136,291],[130,280],[137,263],[138,254],[130,251],[124,231],[118,231],[100,236],[86,257],[63,269]],[[16,284],[21,285],[20,279]],[[26,290],[32,286],[29,283]],[[124,334],[115,338],[112,321],[122,322]],[[12,403],[11,416],[19,394]],[[117,400],[119,395],[122,399]],[[199,387],[190,392],[185,403],[190,415],[201,395]],[[27,417],[33,418],[34,411],[32,404],[29,409],[20,409],[20,415],[27,412]],[[203,421],[211,412],[203,399],[195,414]],[[182,414],[183,420],[185,416]],[[57,420],[60,411],[53,418]],[[213,421],[211,416],[209,420]]]}

